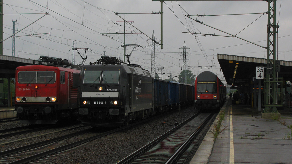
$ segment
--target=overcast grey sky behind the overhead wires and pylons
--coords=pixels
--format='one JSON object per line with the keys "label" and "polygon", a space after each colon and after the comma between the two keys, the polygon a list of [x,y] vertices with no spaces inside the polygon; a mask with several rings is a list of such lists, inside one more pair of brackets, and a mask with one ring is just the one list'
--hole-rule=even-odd
{"label": "overcast grey sky behind the overhead wires and pylons", "polygon": [[[279,23],[278,59],[292,60],[292,1],[277,0],[276,22]],[[267,14],[266,1],[165,1],[163,3],[163,49],[157,47],[157,72],[172,72],[178,76],[182,70],[183,60],[179,53],[183,52],[185,42],[187,53],[187,68],[197,75],[202,71],[212,71],[223,81],[223,73],[217,60],[217,53],[240,55],[248,57],[266,58],[267,51]],[[95,62],[104,54],[123,59],[124,44],[123,20],[132,21],[126,24],[126,32],[138,33],[139,30],[147,36],[160,38],[160,2],[151,0],[4,0],[4,39],[12,35],[12,21],[16,21],[16,56],[37,60],[40,56],[59,57],[72,60],[72,40],[76,40],[75,47],[86,47],[93,52],[87,52],[87,60]],[[257,14],[254,14],[257,13]],[[203,21],[202,25],[185,15],[218,15],[191,16]],[[245,15],[230,15],[245,14]],[[238,37],[259,46],[220,32],[237,35]],[[138,30],[139,29],[139,30]],[[133,30],[133,31],[130,31]],[[222,36],[202,36],[183,32],[215,34]],[[45,34],[50,33],[50,34]],[[25,36],[40,34],[34,36]],[[144,34],[126,34],[126,44],[138,44],[130,60],[133,64],[140,64],[150,71],[151,44]],[[126,53],[130,53],[128,48]],[[4,55],[12,55],[12,38],[4,41]],[[75,52],[75,64],[82,62]],[[198,69],[199,63],[199,69]],[[163,78],[166,78],[164,76]],[[225,83],[226,84],[226,83]]]}

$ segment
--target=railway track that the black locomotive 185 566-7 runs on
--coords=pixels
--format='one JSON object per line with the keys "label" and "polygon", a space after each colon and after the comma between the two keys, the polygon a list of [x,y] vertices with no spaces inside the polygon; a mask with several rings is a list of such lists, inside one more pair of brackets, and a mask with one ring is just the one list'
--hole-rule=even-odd
{"label": "railway track that the black locomotive 185 566-7 runs on", "polygon": [[[125,127],[109,130],[107,132],[93,132],[92,130],[84,130],[68,134],[53,139],[48,139],[34,144],[29,144],[14,149],[9,149],[0,152],[0,164],[20,164],[20,163],[37,163],[39,160],[50,160],[45,158],[64,151],[70,151],[76,147],[84,147],[88,142],[120,132],[126,129],[133,128],[157,119],[160,116],[155,116],[147,120],[127,125]],[[38,161],[36,161],[38,160]]]}

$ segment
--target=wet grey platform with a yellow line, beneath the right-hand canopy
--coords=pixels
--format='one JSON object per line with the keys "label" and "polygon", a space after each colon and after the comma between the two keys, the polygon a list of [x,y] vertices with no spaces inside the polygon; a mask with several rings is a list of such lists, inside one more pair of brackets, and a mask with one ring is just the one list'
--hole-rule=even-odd
{"label": "wet grey platform with a yellow line, beneath the right-hand canopy", "polygon": [[227,99],[221,132],[214,141],[212,130],[190,164],[292,164],[292,108],[278,110],[279,120],[261,118],[256,108],[232,104]]}

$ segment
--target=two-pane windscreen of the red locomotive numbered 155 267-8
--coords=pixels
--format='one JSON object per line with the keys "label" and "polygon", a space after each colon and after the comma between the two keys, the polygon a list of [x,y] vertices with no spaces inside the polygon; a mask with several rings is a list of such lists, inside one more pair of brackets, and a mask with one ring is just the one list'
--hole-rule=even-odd
{"label": "two-pane windscreen of the red locomotive numbered 155 267-8", "polygon": [[18,83],[55,83],[56,73],[54,71],[20,71],[18,72]]}

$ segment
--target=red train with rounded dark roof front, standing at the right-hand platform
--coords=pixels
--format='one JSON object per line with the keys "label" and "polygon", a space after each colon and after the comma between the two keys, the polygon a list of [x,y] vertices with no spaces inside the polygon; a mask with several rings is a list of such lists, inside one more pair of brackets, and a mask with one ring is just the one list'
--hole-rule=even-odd
{"label": "red train with rounded dark roof front, standing at the right-hand platform", "polygon": [[195,107],[202,112],[220,110],[226,100],[226,86],[210,71],[200,73],[195,80]]}

